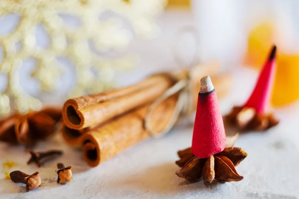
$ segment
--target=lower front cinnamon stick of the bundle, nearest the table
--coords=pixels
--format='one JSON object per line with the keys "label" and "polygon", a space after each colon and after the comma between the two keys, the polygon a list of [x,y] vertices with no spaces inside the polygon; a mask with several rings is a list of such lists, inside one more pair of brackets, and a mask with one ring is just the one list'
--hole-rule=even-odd
{"label": "lower front cinnamon stick of the bundle, nearest the table", "polygon": [[[150,125],[161,130],[174,111],[177,95],[158,104],[150,116]],[[82,138],[83,157],[88,165],[96,167],[125,149],[149,138],[144,126],[149,105],[120,116],[102,127],[85,133]]]}

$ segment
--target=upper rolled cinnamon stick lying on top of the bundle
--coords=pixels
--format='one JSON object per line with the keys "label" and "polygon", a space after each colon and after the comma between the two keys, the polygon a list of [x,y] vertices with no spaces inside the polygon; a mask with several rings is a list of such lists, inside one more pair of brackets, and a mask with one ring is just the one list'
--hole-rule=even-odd
{"label": "upper rolled cinnamon stick lying on top of the bundle", "polygon": [[171,76],[158,74],[124,89],[67,100],[63,120],[72,129],[94,126],[155,100],[173,83]]}

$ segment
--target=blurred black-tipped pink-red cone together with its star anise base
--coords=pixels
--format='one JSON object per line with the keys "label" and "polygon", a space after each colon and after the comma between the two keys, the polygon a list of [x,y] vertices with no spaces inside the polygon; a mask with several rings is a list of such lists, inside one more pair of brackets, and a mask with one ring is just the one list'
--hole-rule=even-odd
{"label": "blurred black-tipped pink-red cone together with its star anise base", "polygon": [[273,113],[268,111],[275,77],[275,57],[276,46],[273,46],[248,101],[243,106],[234,106],[226,116],[228,121],[240,130],[262,131],[279,123]]}

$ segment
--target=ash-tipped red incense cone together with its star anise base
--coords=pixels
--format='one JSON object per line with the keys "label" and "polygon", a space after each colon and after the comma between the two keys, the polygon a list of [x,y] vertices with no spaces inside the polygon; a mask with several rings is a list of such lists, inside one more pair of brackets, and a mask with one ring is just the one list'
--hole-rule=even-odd
{"label": "ash-tipped red incense cone together with its star anise base", "polygon": [[203,178],[204,182],[220,183],[240,181],[237,166],[247,153],[233,147],[238,134],[225,137],[224,125],[217,95],[208,76],[201,79],[193,129],[192,147],[178,151],[182,167],[175,174],[190,183]]}

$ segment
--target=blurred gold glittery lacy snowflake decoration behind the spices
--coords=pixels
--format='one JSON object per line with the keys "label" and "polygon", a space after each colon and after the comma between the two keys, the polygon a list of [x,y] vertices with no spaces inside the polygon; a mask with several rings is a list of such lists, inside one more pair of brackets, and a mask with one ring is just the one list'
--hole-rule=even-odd
{"label": "blurred gold glittery lacy snowflake decoration behind the spices", "polygon": [[[19,85],[19,69],[23,60],[34,59],[31,74],[40,82],[42,91],[57,89],[64,73],[57,58],[70,59],[76,72],[76,83],[69,97],[101,92],[114,85],[115,70],[130,69],[137,62],[134,54],[105,56],[124,50],[133,35],[149,38],[158,28],[154,17],[165,0],[0,0],[0,17],[16,14],[20,20],[12,32],[0,36],[3,51],[0,74],[7,76],[7,86],[0,93],[0,114],[11,109],[21,113],[38,110],[42,103]],[[113,15],[101,18],[109,11]],[[68,26],[68,17],[79,25]],[[123,21],[129,29],[123,27]],[[49,35],[49,44],[36,45],[35,32],[42,26]],[[20,49],[16,44],[21,44]],[[11,108],[10,106],[13,106]]]}

